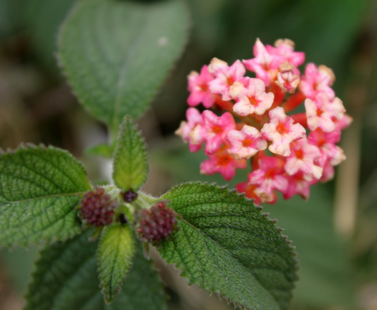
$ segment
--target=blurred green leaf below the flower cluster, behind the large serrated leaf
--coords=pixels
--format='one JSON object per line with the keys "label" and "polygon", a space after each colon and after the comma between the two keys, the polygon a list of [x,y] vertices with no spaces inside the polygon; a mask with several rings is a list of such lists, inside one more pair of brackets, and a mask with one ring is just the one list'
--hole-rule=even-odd
{"label": "blurred green leaf below the flower cluster, behind the large serrated leaf", "polygon": [[278,219],[296,246],[300,280],[293,291],[294,299],[319,308],[352,308],[351,262],[345,244],[333,229],[330,192],[316,185],[307,202],[298,196],[290,200],[279,197],[276,205],[264,209]]}

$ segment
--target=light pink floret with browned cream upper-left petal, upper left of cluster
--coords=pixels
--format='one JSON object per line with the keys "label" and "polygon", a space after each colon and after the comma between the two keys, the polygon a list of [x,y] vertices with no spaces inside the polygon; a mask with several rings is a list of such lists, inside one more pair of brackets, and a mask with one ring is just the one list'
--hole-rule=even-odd
{"label": "light pink floret with browned cream upper-left petal, upper left of cluster", "polygon": [[236,60],[234,64],[228,67],[225,61],[219,60],[218,58],[213,58],[210,65],[208,66],[208,71],[215,75],[215,79],[209,82],[210,91],[214,94],[222,95],[222,100],[228,101],[229,88],[234,82],[242,78],[245,73],[245,67],[241,61]]}

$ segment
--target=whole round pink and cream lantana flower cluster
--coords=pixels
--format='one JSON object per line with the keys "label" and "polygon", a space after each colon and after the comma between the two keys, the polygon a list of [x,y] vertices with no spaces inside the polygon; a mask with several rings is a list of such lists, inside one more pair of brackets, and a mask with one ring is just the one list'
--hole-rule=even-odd
{"label": "whole round pink and cream lantana flower cluster", "polygon": [[[345,159],[336,144],[352,119],[331,88],[333,71],[308,63],[301,73],[305,53],[291,40],[270,46],[257,39],[253,53],[230,65],[213,58],[189,74],[190,108],[176,133],[191,152],[205,144],[203,174],[231,180],[250,160],[247,181],[236,188],[256,203],[276,202],[276,191],[307,199],[310,186],[331,179]],[[297,112],[302,104],[305,112]]]}

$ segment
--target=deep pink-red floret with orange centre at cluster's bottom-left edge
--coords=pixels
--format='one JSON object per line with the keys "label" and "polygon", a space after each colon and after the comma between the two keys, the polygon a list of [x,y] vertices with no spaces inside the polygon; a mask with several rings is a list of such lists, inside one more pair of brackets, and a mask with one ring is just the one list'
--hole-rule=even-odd
{"label": "deep pink-red floret with orange centre at cluster's bottom-left edge", "polygon": [[205,160],[200,165],[200,173],[214,174],[220,173],[225,180],[229,181],[236,174],[236,168],[246,168],[246,160],[236,160],[233,156],[228,154],[227,146],[223,146],[216,153],[209,154],[209,159]]}

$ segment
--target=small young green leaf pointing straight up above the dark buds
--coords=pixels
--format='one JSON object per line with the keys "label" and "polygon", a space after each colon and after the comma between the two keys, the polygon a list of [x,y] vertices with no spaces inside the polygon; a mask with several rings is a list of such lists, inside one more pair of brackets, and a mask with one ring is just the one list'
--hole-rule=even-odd
{"label": "small young green leaf pointing straight up above the dark buds", "polygon": [[125,116],[114,153],[113,180],[121,189],[137,190],[148,176],[145,142],[129,116]]}

